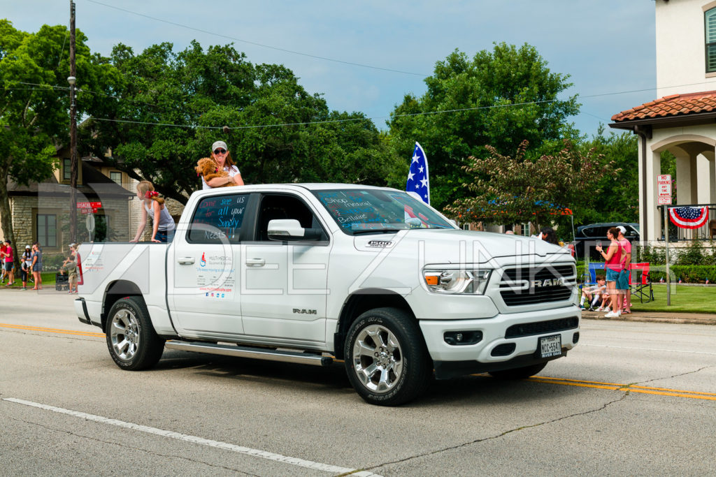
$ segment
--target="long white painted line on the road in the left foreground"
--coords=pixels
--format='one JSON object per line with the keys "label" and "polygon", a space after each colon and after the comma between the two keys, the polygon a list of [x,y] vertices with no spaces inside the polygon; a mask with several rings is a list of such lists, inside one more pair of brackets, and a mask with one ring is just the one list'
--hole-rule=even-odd
{"label": "long white painted line on the road in the left foreground", "polygon": [[246,454],[248,456],[261,457],[261,458],[269,459],[269,461],[278,461],[278,462],[288,463],[288,464],[291,464],[294,466],[313,468],[318,471],[326,471],[326,472],[332,472],[332,473],[351,473],[351,476],[380,477],[378,474],[375,474],[375,473],[372,473],[369,471],[357,472],[356,469],[354,469],[354,468],[331,466],[326,463],[305,461],[304,459],[300,459],[300,458],[296,458],[296,457],[281,456],[281,454],[261,451],[259,449],[252,449],[252,448],[243,447],[243,446],[235,446],[234,444],[230,444],[230,443],[226,443],[226,442],[213,441],[211,439],[205,439],[205,438],[201,438],[201,437],[197,437],[197,436],[188,436],[187,434],[177,433],[177,432],[173,432],[173,431],[165,431],[163,429],[152,428],[149,426],[141,426],[140,424],[126,423],[124,421],[117,421],[117,419],[103,418],[101,415],[80,413],[77,410],[56,408],[56,407],[54,407],[54,405],[33,403],[32,401],[29,401],[29,400],[22,400],[22,399],[16,399],[16,398],[3,398],[3,400],[9,401],[11,403],[29,405],[34,408],[40,408],[40,409],[44,409],[44,410],[52,410],[52,412],[54,412],[54,413],[62,413],[62,414],[72,415],[76,418],[86,419],[87,421],[96,421],[98,423],[110,424],[112,426],[119,426],[122,428],[134,429],[135,431],[156,434],[157,436],[178,439],[179,441],[186,441],[186,442],[190,442],[190,443],[194,443],[194,444],[200,444],[202,446],[216,447],[216,448],[224,449],[226,451],[232,451],[232,452],[237,452],[237,453],[241,453],[241,454]]}

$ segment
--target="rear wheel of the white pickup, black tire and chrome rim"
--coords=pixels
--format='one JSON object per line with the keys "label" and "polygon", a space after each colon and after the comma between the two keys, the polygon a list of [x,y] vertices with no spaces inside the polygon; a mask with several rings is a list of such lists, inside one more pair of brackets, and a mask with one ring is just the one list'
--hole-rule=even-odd
{"label": "rear wheel of the white pickup, black tire and chrome rim", "polygon": [[139,297],[125,297],[112,305],[106,335],[112,359],[124,370],[151,368],[162,357],[164,340],[155,332]]}

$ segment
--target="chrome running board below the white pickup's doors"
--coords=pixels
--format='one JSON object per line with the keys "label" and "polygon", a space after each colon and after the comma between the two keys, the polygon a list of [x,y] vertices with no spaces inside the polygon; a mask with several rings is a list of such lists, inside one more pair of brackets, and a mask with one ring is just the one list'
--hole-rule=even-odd
{"label": "chrome running board below the white pickup's doors", "polygon": [[191,341],[170,340],[164,344],[170,350],[194,351],[212,355],[236,356],[238,358],[254,358],[258,360],[282,361],[304,365],[328,366],[333,363],[331,356],[310,355],[299,351],[267,350],[266,348],[248,348],[246,346],[216,345]]}

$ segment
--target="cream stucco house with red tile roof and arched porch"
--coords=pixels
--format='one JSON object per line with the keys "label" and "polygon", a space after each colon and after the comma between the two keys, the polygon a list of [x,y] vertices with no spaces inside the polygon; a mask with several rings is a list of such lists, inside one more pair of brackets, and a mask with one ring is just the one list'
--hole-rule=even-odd
{"label": "cream stucco house with red tile roof and arched porch", "polygon": [[716,1],[655,0],[657,98],[615,114],[610,127],[639,135],[639,223],[642,240],[663,240],[657,206],[661,156],[676,157],[675,204],[708,205],[709,220],[679,239],[716,232]]}

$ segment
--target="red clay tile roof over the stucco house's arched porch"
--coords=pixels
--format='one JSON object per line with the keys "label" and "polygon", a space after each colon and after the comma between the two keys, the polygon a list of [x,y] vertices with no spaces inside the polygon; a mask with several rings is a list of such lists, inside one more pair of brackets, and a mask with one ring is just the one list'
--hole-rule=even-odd
{"label": "red clay tile roof over the stucco house's arched porch", "polygon": [[664,96],[614,114],[611,120],[621,122],[633,119],[657,119],[702,112],[716,112],[716,91]]}

